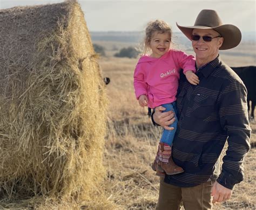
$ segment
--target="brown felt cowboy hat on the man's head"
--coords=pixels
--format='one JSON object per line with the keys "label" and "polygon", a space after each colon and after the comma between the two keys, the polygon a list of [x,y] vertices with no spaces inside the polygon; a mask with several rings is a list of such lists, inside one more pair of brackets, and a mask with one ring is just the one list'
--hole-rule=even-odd
{"label": "brown felt cowboy hat on the man's head", "polygon": [[194,26],[180,26],[176,23],[178,28],[191,40],[193,29],[213,29],[217,31],[224,42],[220,50],[227,50],[234,48],[241,41],[241,31],[237,26],[231,24],[223,24],[218,13],[214,10],[202,10],[197,16]]}

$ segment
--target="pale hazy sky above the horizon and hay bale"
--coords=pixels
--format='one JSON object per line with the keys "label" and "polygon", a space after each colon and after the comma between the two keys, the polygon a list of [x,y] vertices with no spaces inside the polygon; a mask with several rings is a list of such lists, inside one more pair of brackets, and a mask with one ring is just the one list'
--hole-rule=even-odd
{"label": "pale hazy sky above the horizon and hay bale", "polygon": [[[64,0],[0,0],[0,9],[22,5],[60,3]],[[147,22],[161,19],[176,26],[194,25],[202,9],[216,10],[224,24],[238,26],[242,32],[256,31],[256,0],[78,0],[89,31],[143,31]]]}

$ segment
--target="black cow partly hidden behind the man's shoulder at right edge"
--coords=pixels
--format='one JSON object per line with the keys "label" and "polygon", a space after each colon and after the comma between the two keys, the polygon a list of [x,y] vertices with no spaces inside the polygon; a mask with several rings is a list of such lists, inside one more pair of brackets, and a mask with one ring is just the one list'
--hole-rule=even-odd
{"label": "black cow partly hidden behind the man's shoulder at right edge", "polygon": [[252,101],[250,119],[254,120],[254,108],[256,104],[256,66],[231,67],[231,69],[238,74],[246,86],[248,113],[250,115],[250,101]]}

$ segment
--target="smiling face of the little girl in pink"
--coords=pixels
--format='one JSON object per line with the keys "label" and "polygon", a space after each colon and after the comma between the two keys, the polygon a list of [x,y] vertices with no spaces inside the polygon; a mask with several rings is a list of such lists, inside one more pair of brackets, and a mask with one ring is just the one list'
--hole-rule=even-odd
{"label": "smiling face of the little girl in pink", "polygon": [[151,57],[160,58],[166,53],[171,44],[171,35],[170,33],[159,33],[155,31],[150,40],[149,47],[152,50]]}

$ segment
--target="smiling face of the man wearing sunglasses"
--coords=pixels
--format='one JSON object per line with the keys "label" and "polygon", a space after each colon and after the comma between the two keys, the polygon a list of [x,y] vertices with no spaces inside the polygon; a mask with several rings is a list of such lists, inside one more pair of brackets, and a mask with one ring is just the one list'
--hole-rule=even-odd
{"label": "smiling face of the man wearing sunglasses", "polygon": [[[197,59],[203,60],[214,60],[219,53],[219,48],[223,43],[223,37],[220,36],[217,31],[212,29],[193,29],[192,35],[199,35],[199,40],[192,40],[192,46],[194,52],[196,52]],[[217,37],[211,40],[211,42],[206,42],[203,40],[203,36]]]}

